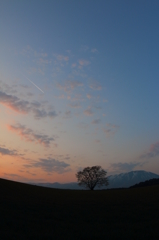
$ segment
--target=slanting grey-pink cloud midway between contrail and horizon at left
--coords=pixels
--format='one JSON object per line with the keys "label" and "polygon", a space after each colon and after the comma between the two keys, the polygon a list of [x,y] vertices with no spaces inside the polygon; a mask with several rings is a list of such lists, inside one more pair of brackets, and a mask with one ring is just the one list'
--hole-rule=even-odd
{"label": "slanting grey-pink cloud midway between contrail and horizon at left", "polygon": [[49,137],[46,134],[37,133],[31,128],[27,128],[25,125],[8,125],[8,129],[21,136],[27,142],[35,142],[43,145],[44,147],[49,147],[50,144],[55,141],[53,137]]}

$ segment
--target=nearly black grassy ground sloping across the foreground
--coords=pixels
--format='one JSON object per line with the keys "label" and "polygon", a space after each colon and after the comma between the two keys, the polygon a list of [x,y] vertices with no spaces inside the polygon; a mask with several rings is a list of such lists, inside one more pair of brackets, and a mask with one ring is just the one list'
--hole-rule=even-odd
{"label": "nearly black grassy ground sloping across the foreground", "polygon": [[58,190],[0,179],[0,239],[159,239],[159,186]]}

